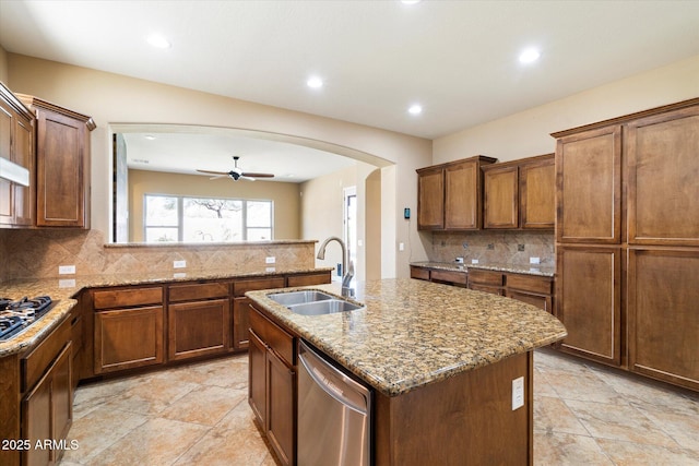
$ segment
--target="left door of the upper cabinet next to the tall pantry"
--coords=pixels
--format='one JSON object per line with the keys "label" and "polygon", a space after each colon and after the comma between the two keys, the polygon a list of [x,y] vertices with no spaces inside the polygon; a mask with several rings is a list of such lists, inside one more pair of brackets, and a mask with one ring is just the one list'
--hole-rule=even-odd
{"label": "left door of the upper cabinet next to the tall pantry", "polygon": [[483,228],[519,227],[519,170],[517,165],[487,167],[483,174]]}

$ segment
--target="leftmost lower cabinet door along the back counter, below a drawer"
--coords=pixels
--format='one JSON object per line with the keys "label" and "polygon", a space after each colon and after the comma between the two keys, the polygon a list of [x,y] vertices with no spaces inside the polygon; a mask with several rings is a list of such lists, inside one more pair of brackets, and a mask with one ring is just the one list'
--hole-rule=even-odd
{"label": "leftmost lower cabinet door along the back counter, below a drawer", "polygon": [[165,361],[163,307],[95,313],[95,373],[114,372]]}

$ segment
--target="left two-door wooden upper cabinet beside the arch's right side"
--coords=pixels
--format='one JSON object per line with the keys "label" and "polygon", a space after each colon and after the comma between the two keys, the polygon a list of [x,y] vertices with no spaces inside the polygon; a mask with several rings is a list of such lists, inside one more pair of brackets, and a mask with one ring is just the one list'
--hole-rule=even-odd
{"label": "left two-door wooden upper cabinet beside the arch's right side", "polygon": [[474,230],[482,227],[483,174],[497,162],[482,155],[417,170],[417,229]]}

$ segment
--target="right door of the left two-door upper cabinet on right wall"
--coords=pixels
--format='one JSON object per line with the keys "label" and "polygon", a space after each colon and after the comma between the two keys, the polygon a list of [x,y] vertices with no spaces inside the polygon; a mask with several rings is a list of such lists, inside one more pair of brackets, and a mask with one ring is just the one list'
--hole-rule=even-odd
{"label": "right door of the left two-door upper cabinet on right wall", "polygon": [[445,229],[481,228],[481,180],[476,160],[445,167]]}

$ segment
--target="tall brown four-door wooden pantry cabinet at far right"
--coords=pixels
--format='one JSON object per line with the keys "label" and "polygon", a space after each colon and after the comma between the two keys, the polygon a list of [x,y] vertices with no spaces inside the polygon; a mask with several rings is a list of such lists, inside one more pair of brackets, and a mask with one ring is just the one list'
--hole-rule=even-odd
{"label": "tall brown four-door wooden pantry cabinet at far right", "polygon": [[699,390],[699,98],[553,136],[561,350]]}

